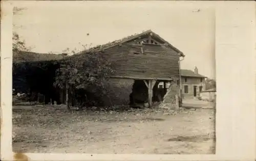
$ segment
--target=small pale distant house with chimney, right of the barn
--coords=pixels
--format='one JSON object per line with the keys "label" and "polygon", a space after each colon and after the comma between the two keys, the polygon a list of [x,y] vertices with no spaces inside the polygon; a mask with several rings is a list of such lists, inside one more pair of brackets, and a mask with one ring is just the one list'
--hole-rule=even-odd
{"label": "small pale distant house with chimney, right of the barn", "polygon": [[205,90],[205,78],[206,76],[198,73],[197,67],[195,67],[194,71],[181,69],[181,86],[183,96],[199,96],[199,93]]}

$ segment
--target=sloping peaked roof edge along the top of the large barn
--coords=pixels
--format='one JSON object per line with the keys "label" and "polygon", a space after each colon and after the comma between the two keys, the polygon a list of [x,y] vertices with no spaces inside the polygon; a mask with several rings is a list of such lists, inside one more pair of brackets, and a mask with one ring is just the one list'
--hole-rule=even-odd
{"label": "sloping peaked roof edge along the top of the large barn", "polygon": [[154,33],[154,32],[151,31],[151,30],[147,30],[147,31],[144,31],[144,32],[139,33],[139,34],[134,34],[134,35],[131,35],[131,36],[127,36],[127,37],[124,37],[124,38],[122,38],[122,39],[115,40],[115,41],[112,41],[112,42],[109,42],[109,43],[106,43],[106,44],[103,44],[103,45],[98,45],[98,46],[89,48],[89,49],[87,49],[87,50],[81,51],[81,52],[79,52],[79,53],[102,51],[102,50],[108,49],[108,48],[110,48],[110,47],[114,47],[114,46],[116,46],[116,45],[119,45],[119,44],[124,43],[124,42],[127,42],[127,41],[131,41],[131,40],[133,40],[133,39],[139,38],[140,36],[147,35],[147,34],[150,34],[150,33],[152,33],[153,36],[155,36],[155,37],[157,37],[158,39],[160,39],[161,41],[163,41],[163,42],[164,42],[166,45],[168,45],[169,47],[173,48],[176,52],[179,53],[179,55],[180,55],[181,57],[185,57],[185,55],[183,54],[183,52],[181,52],[178,48],[174,47],[172,44],[168,43],[167,41],[165,41],[163,38],[161,38],[159,35],[157,35],[156,33]]}

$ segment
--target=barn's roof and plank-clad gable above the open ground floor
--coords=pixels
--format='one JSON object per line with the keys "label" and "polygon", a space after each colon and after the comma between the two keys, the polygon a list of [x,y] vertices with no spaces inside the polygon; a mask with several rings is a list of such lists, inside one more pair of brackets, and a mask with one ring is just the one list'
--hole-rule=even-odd
{"label": "barn's roof and plank-clad gable above the open ground floor", "polygon": [[[139,43],[148,36],[162,45]],[[179,57],[184,54],[160,36],[147,30],[104,45],[79,52],[69,58],[79,58],[84,53],[102,53],[115,72],[111,77],[133,79],[179,79]]]}

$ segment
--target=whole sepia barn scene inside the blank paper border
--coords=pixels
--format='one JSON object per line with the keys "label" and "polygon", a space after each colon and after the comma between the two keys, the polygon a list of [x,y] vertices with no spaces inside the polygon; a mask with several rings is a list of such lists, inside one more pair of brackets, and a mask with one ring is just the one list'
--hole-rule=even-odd
{"label": "whole sepia barn scene inside the blank paper border", "polygon": [[12,146],[25,153],[215,154],[215,9],[15,3]]}

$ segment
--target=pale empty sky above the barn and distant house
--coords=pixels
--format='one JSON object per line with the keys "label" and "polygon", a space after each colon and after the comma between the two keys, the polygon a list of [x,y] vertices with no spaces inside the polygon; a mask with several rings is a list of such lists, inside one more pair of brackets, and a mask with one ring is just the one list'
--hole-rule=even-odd
{"label": "pale empty sky above the barn and distant house", "polygon": [[151,29],[184,53],[182,69],[197,66],[200,74],[215,78],[214,8],[172,1],[18,1],[14,6],[26,8],[13,16],[13,30],[31,51],[82,50]]}

